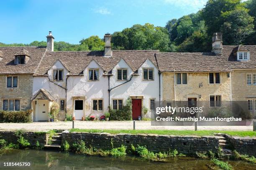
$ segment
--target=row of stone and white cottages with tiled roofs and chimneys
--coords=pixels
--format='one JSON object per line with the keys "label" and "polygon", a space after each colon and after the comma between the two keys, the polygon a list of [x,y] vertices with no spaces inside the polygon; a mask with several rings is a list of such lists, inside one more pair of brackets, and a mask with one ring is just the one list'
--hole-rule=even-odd
{"label": "row of stone and white cottages with tiled roofs and chimneys", "polygon": [[[158,50],[54,52],[47,47],[0,47],[0,110],[33,109],[33,121],[49,120],[56,101],[59,120],[120,109],[132,99],[133,119],[150,117],[154,102],[244,101],[256,110],[256,45],[225,46],[212,37],[212,52],[171,53]],[[143,107],[148,113],[142,113]]]}

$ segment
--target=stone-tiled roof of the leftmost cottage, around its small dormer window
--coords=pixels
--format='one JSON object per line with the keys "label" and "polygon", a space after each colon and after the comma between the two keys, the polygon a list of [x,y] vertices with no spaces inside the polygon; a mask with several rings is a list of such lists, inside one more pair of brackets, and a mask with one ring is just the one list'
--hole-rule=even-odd
{"label": "stone-tiled roof of the leftmost cottage, around its small dormer window", "polygon": [[[3,59],[0,62],[0,74],[33,74],[46,51],[45,47],[0,47]],[[26,65],[15,65],[15,55],[29,55]]]}

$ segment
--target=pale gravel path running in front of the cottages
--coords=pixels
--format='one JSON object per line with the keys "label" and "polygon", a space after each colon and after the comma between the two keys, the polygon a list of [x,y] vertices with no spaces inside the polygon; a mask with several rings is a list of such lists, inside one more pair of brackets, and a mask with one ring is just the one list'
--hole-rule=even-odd
{"label": "pale gravel path running in front of the cottages", "polygon": [[[33,122],[33,123],[0,123],[0,130],[68,130],[72,122]],[[133,121],[75,121],[74,128],[79,129],[133,129]],[[194,126],[151,126],[151,121],[136,121],[136,130],[195,130]],[[252,126],[198,126],[197,130],[253,130]]]}

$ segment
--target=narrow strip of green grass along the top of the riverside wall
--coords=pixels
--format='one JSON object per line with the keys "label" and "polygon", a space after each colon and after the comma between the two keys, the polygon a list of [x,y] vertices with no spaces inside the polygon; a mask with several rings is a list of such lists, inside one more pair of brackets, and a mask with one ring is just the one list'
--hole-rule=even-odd
{"label": "narrow strip of green grass along the top of the riverside wall", "polygon": [[231,136],[255,137],[255,131],[225,131],[225,130],[96,130],[96,129],[71,129],[70,132],[87,133],[129,133],[129,134],[156,134],[156,135],[175,135],[175,136],[214,136],[214,133],[225,133]]}

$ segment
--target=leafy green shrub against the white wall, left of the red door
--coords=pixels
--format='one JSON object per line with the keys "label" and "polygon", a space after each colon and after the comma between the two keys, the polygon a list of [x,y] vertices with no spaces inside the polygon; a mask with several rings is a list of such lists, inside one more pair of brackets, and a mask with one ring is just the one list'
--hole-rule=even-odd
{"label": "leafy green shrub against the white wall, left of the red door", "polygon": [[110,120],[132,120],[132,102],[131,98],[126,100],[126,105],[120,110],[113,110],[108,107]]}

